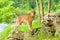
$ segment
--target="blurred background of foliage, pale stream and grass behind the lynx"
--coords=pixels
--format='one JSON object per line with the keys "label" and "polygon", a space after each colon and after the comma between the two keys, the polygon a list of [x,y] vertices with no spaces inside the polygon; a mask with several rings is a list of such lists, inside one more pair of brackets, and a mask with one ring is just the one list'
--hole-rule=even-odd
{"label": "blurred background of foliage, pale stream and grass behind the lynx", "polygon": [[[40,0],[37,0],[40,7]],[[47,13],[48,0],[43,0],[44,13]],[[41,24],[38,23],[38,8],[36,5],[36,0],[0,0],[0,38],[4,38],[8,35],[8,32],[14,27],[17,16],[27,14],[30,10],[36,10],[35,20],[33,21],[33,28],[40,27]],[[51,12],[60,10],[60,0],[51,0]],[[41,11],[41,10],[40,10]],[[21,26],[21,25],[20,25]],[[22,31],[27,31],[28,27],[22,25],[18,28]],[[5,35],[4,35],[4,34]]]}

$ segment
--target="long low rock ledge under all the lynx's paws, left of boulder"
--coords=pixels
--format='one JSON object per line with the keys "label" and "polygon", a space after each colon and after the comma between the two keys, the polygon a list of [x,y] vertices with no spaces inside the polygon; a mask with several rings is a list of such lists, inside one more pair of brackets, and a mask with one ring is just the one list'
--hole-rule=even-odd
{"label": "long low rock ledge under all the lynx's paws, left of boulder", "polygon": [[27,32],[15,30],[9,34],[8,40],[33,40],[33,37],[38,36],[41,32],[47,33],[48,31],[44,27],[35,28],[32,31],[28,30]]}

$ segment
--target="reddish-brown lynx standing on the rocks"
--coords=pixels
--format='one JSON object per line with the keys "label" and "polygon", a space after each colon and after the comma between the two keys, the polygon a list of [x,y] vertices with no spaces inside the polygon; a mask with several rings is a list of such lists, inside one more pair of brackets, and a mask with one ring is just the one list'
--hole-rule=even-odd
{"label": "reddish-brown lynx standing on the rocks", "polygon": [[35,17],[36,12],[34,10],[32,10],[29,14],[25,14],[25,15],[21,15],[17,17],[16,20],[16,25],[14,27],[14,29],[16,30],[16,28],[24,21],[26,21],[28,23],[28,28],[29,30],[32,31],[32,21]]}

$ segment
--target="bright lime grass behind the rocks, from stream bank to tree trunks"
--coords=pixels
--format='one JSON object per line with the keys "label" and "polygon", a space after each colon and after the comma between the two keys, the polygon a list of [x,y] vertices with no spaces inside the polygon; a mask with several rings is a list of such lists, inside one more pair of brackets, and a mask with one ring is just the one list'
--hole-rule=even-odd
{"label": "bright lime grass behind the rocks, from stream bank to tree trunks", "polygon": [[[39,25],[39,23],[37,23],[37,22],[38,22],[37,20],[34,20],[34,21],[33,21],[33,23],[32,23],[33,29],[34,29],[34,28],[37,28],[37,26],[38,26],[38,27],[41,27],[41,25]],[[36,27],[35,27],[35,26],[36,26]],[[10,25],[8,25],[8,26],[3,30],[3,32],[0,33],[0,39],[2,39],[2,38],[7,38],[9,32],[10,32],[12,29],[13,29],[13,27],[10,26]],[[18,27],[18,30],[19,30],[19,31],[23,31],[23,32],[28,31],[28,24],[25,23],[25,24],[23,24],[23,25],[20,25],[20,27]]]}

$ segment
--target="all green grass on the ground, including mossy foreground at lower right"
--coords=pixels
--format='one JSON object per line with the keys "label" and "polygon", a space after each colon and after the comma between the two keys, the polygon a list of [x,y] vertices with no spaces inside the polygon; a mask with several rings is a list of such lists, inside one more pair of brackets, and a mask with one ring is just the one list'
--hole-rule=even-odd
{"label": "all green grass on the ground, including mossy foreground at lower right", "polygon": [[[37,20],[34,20],[32,23],[32,27],[37,28],[37,27],[41,27],[41,24],[39,25]],[[7,26],[7,28],[0,33],[0,39],[4,39],[7,38],[10,30],[12,29],[11,26]],[[20,31],[28,31],[28,24],[23,24],[20,27],[18,27],[18,30]],[[60,35],[53,37],[51,36],[49,33],[44,33],[44,32],[40,32],[38,35],[34,35],[33,37],[31,37],[31,40],[60,40]]]}

